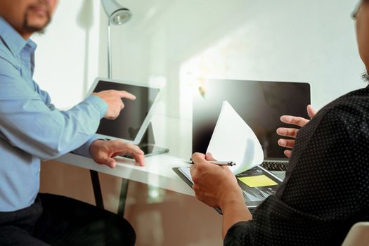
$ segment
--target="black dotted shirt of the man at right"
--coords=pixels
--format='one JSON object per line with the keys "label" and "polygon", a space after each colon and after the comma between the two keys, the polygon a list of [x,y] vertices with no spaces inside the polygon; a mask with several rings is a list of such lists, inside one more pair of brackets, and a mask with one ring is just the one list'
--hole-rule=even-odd
{"label": "black dotted shirt of the man at right", "polygon": [[326,105],[297,134],[276,195],[224,245],[341,245],[369,221],[369,86]]}

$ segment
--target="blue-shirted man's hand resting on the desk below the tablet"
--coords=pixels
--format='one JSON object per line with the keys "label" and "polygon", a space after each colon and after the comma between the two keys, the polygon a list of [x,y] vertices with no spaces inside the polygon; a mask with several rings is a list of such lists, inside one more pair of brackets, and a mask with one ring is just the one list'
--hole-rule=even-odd
{"label": "blue-shirted man's hand resting on the desk below the tablet", "polygon": [[117,155],[129,154],[134,157],[138,166],[145,166],[143,151],[138,146],[131,143],[124,143],[121,140],[96,140],[90,145],[91,157],[98,164],[105,164],[114,168],[117,162],[113,159]]}

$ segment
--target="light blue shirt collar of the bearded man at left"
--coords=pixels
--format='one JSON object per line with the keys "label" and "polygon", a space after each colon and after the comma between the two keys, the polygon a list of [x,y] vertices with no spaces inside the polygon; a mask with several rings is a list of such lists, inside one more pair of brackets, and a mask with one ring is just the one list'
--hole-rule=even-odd
{"label": "light blue shirt collar of the bearded man at left", "polygon": [[25,46],[30,46],[34,51],[37,45],[31,40],[25,40],[20,34],[0,16],[0,37],[4,40],[13,56],[17,56]]}

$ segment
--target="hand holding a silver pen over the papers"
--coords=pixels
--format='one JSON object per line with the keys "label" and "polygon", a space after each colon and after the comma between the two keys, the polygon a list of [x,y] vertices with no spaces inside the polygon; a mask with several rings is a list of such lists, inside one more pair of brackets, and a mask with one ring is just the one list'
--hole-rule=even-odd
{"label": "hand holding a silver pen over the papers", "polygon": [[226,202],[238,198],[243,203],[242,190],[228,167],[209,163],[214,160],[210,153],[192,155],[190,173],[196,198],[210,207],[222,208]]}

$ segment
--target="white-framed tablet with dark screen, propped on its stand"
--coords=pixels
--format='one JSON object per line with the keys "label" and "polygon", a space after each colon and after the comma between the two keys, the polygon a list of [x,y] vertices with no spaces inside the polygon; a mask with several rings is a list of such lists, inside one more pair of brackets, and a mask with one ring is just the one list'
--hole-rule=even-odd
{"label": "white-framed tablet with dark screen, propped on its stand", "polygon": [[[122,99],[124,109],[114,119],[101,119],[96,134],[105,139],[122,139],[138,145],[145,156],[166,153],[167,148],[154,145],[153,130],[150,120],[160,95],[160,89],[134,82],[105,79],[98,77],[89,89],[88,95],[105,90],[127,91],[136,96],[136,100]],[[131,157],[124,155],[124,157]]]}

